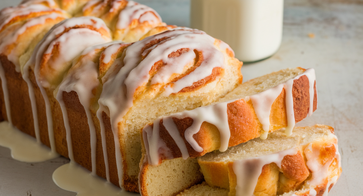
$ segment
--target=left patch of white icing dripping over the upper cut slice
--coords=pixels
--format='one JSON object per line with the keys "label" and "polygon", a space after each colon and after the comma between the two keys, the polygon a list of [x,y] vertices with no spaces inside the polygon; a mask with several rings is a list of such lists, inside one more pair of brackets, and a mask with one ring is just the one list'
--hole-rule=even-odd
{"label": "left patch of white icing dripping over the upper cut slice", "polygon": [[[228,125],[227,105],[228,103],[233,101],[223,102],[220,104],[205,107],[198,107],[194,110],[179,112],[167,117],[162,117],[154,120],[154,128],[152,132],[149,130],[149,128],[143,129],[143,131],[150,132],[148,133],[147,137],[148,142],[145,143],[145,146],[147,146],[147,154],[150,155],[151,161],[149,161],[149,163],[151,163],[152,165],[158,165],[159,163],[159,149],[163,147],[160,146],[160,143],[162,143],[163,140],[159,136],[159,122],[161,119],[163,119],[164,127],[167,129],[168,133],[172,136],[172,138],[178,145],[184,159],[187,159],[189,157],[189,153],[185,142],[183,138],[181,138],[179,130],[176,127],[172,118],[183,119],[189,117],[193,119],[193,124],[185,130],[184,136],[196,152],[203,152],[203,148],[201,148],[197,141],[193,138],[193,135],[199,131],[200,126],[203,122],[214,124],[220,130],[221,146],[219,150],[221,152],[227,150],[229,138],[231,137],[231,132],[229,131]],[[146,127],[150,126],[147,125]],[[157,131],[157,133],[154,133],[155,131]],[[168,151],[170,151],[170,149],[168,149],[167,152]],[[165,152],[165,150],[163,150],[163,152]]]}

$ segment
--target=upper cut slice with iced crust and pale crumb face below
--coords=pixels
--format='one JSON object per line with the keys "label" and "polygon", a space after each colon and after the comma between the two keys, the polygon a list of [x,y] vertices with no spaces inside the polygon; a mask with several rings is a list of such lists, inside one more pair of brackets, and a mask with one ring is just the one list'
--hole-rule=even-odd
{"label": "upper cut slice with iced crust and pale crumb face below", "polygon": [[[163,195],[175,195],[202,179],[193,166],[193,157],[224,151],[264,132],[267,135],[282,127],[294,127],[316,107],[314,70],[294,68],[238,85],[212,105],[158,118],[142,131],[141,194],[152,196],[165,190]],[[287,135],[291,134],[289,129]],[[190,166],[180,170],[179,165]],[[178,175],[170,178],[164,168]]]}

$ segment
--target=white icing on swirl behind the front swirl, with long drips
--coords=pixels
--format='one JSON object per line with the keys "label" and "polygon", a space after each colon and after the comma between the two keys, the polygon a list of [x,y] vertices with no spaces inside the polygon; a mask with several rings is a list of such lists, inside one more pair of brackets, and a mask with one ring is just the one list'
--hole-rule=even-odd
{"label": "white icing on swirl behind the front swirl, with long drips", "polygon": [[[110,38],[103,37],[101,34],[99,34],[96,31],[92,31],[90,29],[86,28],[78,28],[78,29],[70,29],[68,32],[62,34],[57,39],[56,36],[63,33],[65,29],[72,28],[74,26],[79,25],[91,25],[94,26],[97,29],[105,29],[108,30],[106,25],[101,19],[95,18],[95,17],[78,17],[78,18],[70,18],[68,20],[64,20],[54,26],[42,39],[40,43],[37,44],[36,48],[34,49],[33,55],[30,57],[28,62],[25,64],[23,68],[23,78],[25,81],[27,81],[28,88],[29,88],[29,97],[30,101],[32,102],[32,106],[36,106],[35,103],[35,95],[33,93],[33,90],[31,88],[32,84],[30,83],[28,78],[29,76],[29,67],[34,66],[34,74],[36,76],[36,82],[37,85],[40,88],[40,91],[43,95],[44,101],[45,101],[45,110],[46,110],[46,116],[47,116],[47,123],[48,123],[48,133],[49,133],[49,140],[50,140],[50,146],[53,152],[56,151],[55,149],[55,141],[54,141],[54,133],[53,133],[53,120],[52,120],[52,111],[49,103],[48,95],[46,94],[46,91],[44,88],[49,88],[50,84],[48,81],[46,81],[45,78],[42,78],[40,75],[40,63],[42,61],[42,57],[44,54],[51,54],[52,50],[49,48],[52,48],[54,44],[60,44],[60,54],[62,57],[66,58],[58,58],[58,60],[52,64],[52,67],[54,69],[58,68],[58,72],[63,72],[68,69],[69,64],[72,62],[72,60],[79,55],[86,47],[92,46],[99,43],[105,43],[110,41]],[[84,35],[90,35],[90,37],[84,36]],[[65,45],[69,45],[71,47],[66,47]],[[69,48],[72,48],[70,50]],[[60,66],[61,64],[61,66]],[[60,70],[59,70],[60,69]],[[61,108],[64,108],[64,105],[60,102]],[[62,106],[63,105],[63,106]],[[34,109],[36,107],[33,107],[33,114],[36,112]],[[63,110],[62,109],[62,110]],[[63,112],[64,118],[66,118],[66,113]],[[67,116],[68,117],[68,116]],[[66,127],[66,133],[67,133],[67,142],[68,142],[68,150],[70,153],[70,157],[73,159],[73,151],[71,144],[71,138],[70,138],[70,132],[69,132],[69,125],[65,125]]]}

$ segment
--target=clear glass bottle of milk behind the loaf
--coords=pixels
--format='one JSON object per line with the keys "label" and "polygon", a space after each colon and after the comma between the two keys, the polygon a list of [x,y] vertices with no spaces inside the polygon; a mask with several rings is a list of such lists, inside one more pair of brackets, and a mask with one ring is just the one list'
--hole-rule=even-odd
{"label": "clear glass bottle of milk behind the loaf", "polygon": [[284,0],[191,0],[191,27],[220,39],[253,62],[280,47]]}

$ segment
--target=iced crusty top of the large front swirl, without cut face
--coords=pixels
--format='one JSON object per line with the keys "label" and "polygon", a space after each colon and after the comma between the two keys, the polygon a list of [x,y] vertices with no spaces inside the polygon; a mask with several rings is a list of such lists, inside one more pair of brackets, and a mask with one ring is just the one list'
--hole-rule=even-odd
{"label": "iced crusty top of the large front swirl, without cut face", "polygon": [[117,123],[140,98],[197,95],[197,90],[225,74],[228,64],[222,51],[232,50],[199,30],[167,31],[135,42],[117,62],[122,67],[119,73],[105,82],[100,102],[109,106]]}

